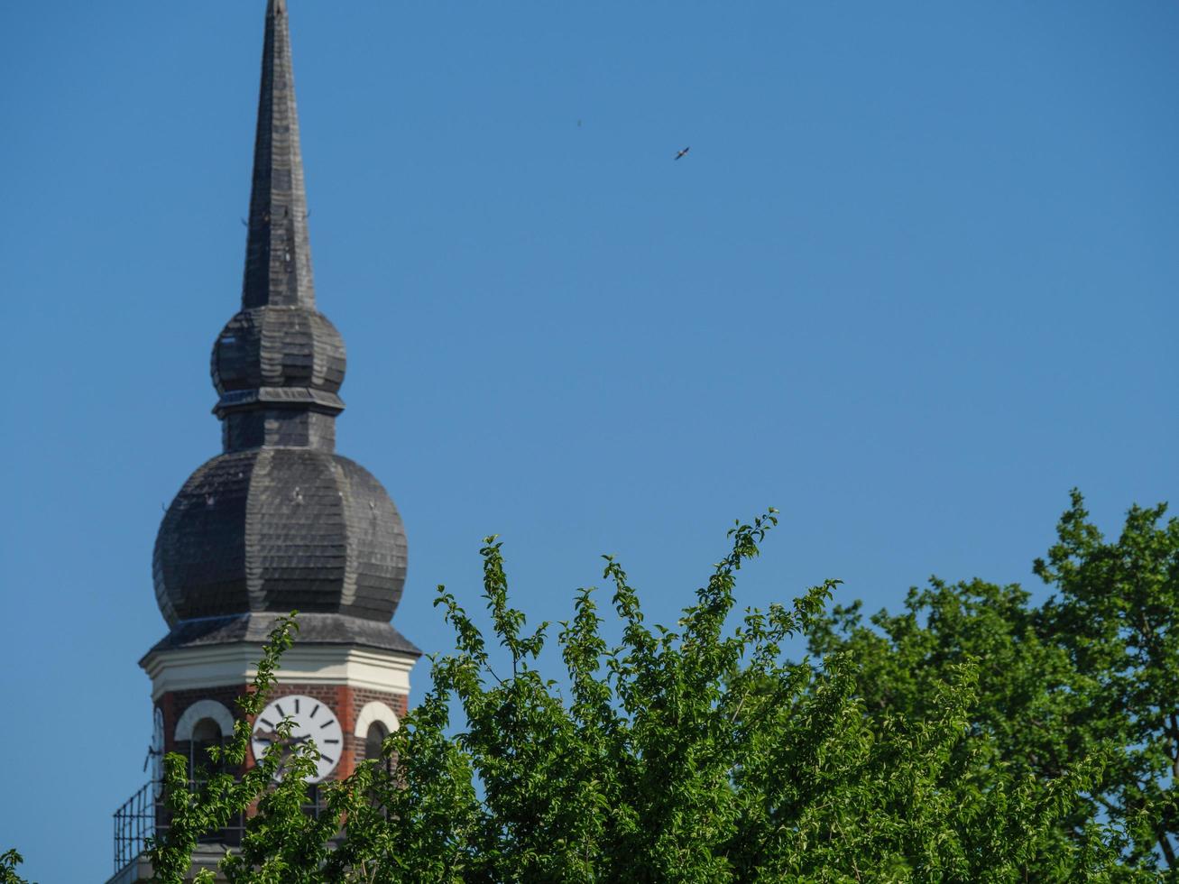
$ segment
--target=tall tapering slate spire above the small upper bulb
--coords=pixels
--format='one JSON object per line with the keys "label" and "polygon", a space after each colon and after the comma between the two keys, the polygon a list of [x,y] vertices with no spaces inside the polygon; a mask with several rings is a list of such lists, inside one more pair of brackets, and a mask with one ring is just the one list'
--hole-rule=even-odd
{"label": "tall tapering slate spire above the small upper bulb", "polygon": [[286,1],[269,0],[242,308],[315,306]]}

